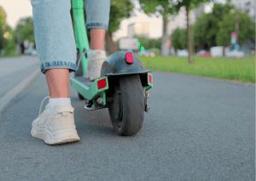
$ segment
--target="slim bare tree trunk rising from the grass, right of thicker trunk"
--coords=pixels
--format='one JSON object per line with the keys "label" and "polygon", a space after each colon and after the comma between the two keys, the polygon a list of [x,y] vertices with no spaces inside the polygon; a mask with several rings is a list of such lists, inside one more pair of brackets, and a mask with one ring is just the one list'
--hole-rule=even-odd
{"label": "slim bare tree trunk rising from the grass, right of thicker trunk", "polygon": [[195,64],[193,59],[193,42],[192,42],[192,31],[191,26],[189,25],[189,7],[186,7],[187,12],[187,34],[188,34],[188,49],[189,49],[189,64]]}

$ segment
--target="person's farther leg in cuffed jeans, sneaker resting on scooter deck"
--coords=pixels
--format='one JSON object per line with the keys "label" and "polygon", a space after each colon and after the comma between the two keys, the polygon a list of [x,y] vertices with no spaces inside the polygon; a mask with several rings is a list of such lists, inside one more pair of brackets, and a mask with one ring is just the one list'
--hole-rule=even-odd
{"label": "person's farther leg in cuffed jeans, sneaker resting on scooter deck", "polygon": [[90,31],[90,51],[86,78],[94,81],[101,76],[103,61],[107,58],[104,48],[108,31],[110,0],[84,0],[86,29]]}

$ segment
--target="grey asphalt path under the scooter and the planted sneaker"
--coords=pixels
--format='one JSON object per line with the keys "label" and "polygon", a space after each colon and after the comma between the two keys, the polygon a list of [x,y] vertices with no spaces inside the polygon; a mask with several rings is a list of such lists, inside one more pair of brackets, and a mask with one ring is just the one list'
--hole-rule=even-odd
{"label": "grey asphalt path under the scooter and the planted sneaker", "polygon": [[49,95],[40,73],[0,112],[0,180],[255,180],[255,86],[153,76],[137,135],[114,133],[108,110],[85,110],[71,87],[81,140],[52,146],[30,135]]}

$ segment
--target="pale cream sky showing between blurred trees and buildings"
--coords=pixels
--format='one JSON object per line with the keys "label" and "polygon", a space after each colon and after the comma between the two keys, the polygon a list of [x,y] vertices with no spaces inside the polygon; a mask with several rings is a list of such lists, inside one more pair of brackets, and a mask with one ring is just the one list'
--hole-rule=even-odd
{"label": "pale cream sky showing between blurred trees and buildings", "polygon": [[[225,3],[225,0],[216,0],[218,3]],[[138,6],[138,3],[135,3]],[[3,7],[7,14],[7,24],[13,29],[20,20],[27,16],[32,16],[32,5],[30,0],[0,0],[0,6]],[[205,12],[211,12],[213,3],[207,4],[205,7]],[[161,18],[148,17],[148,15],[135,12],[137,16],[131,17],[128,20],[122,20],[119,31],[113,33],[113,40],[119,37],[127,36],[127,27],[134,22],[149,22],[149,37],[158,38],[162,35],[162,20]]]}

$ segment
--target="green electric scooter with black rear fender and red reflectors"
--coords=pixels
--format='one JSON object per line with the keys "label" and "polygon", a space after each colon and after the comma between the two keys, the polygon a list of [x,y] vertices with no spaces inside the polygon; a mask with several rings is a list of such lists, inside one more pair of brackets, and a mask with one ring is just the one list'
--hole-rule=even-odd
{"label": "green electric scooter with black rear fender and red reflectors", "polygon": [[148,89],[153,76],[140,59],[129,51],[111,54],[102,64],[101,77],[94,82],[85,78],[90,51],[84,20],[83,0],[72,0],[74,35],[78,70],[70,78],[86,110],[108,108],[114,131],[131,136],[143,127],[144,111],[148,112]]}

